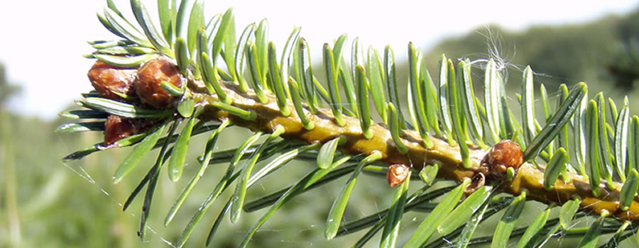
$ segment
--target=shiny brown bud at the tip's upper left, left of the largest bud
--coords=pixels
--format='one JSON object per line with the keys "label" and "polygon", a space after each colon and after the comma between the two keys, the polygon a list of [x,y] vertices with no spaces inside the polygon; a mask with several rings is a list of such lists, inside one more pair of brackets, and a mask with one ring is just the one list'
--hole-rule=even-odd
{"label": "shiny brown bud at the tip's upper left, left of the largest bud", "polygon": [[[114,67],[97,61],[89,69],[89,81],[104,98],[121,101],[122,98],[115,93],[134,96],[133,79],[136,77],[135,69]],[[115,93],[114,93],[115,92]]]}

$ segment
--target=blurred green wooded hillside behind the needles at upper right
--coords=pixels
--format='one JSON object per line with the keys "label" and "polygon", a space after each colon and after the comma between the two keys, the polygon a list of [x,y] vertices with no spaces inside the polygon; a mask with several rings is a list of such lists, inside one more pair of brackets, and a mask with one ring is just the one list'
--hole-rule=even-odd
{"label": "blurred green wooded hillside behind the needles at upper right", "polygon": [[[586,81],[591,86],[614,82],[618,89],[625,91],[633,88],[633,81],[621,79],[627,77],[625,71],[615,74],[611,68],[633,68],[633,77],[639,77],[635,60],[638,50],[633,45],[637,39],[638,11],[584,24],[532,26],[521,32],[486,26],[463,37],[442,40],[427,52],[427,62],[433,71],[442,53],[471,61],[494,58],[516,77],[525,64],[530,64],[537,73],[535,84],[542,83],[550,89],[562,83],[572,85]],[[481,67],[485,63],[477,64]],[[511,80],[519,82],[520,78]]]}

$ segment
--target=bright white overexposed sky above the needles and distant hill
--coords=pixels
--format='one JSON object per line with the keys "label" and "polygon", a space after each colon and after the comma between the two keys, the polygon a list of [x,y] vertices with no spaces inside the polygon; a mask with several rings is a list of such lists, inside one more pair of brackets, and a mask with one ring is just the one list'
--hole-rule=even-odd
{"label": "bright white overexposed sky above the needles and distant hill", "polygon": [[[192,1],[192,0],[191,0]],[[144,1],[151,13],[156,1]],[[383,3],[383,4],[382,4]],[[116,4],[132,16],[129,1]],[[93,60],[82,57],[92,52],[86,40],[115,38],[97,20],[106,1],[2,1],[0,3],[0,62],[9,81],[22,86],[13,98],[14,112],[55,118],[91,84],[86,72]],[[268,18],[269,37],[282,49],[294,26],[315,54],[321,45],[342,33],[349,40],[359,37],[365,47],[379,50],[391,45],[395,56],[405,53],[408,41],[422,50],[442,38],[462,35],[478,26],[495,23],[509,30],[523,30],[535,24],[569,24],[591,21],[610,13],[623,14],[639,6],[638,1],[205,1],[207,14],[233,6],[236,33],[261,18]],[[133,19],[131,20],[133,21]],[[135,21],[133,21],[135,22]],[[350,42],[349,42],[350,43]],[[515,44],[516,45],[516,44]],[[477,51],[482,52],[482,51]],[[319,61],[319,58],[315,58]]]}

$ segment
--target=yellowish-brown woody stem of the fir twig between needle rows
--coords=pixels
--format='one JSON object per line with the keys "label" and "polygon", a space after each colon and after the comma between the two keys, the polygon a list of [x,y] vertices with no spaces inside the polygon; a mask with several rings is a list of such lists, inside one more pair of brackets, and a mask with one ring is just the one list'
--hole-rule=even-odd
{"label": "yellowish-brown woody stem of the fir twig between needle rows", "polygon": [[[207,94],[204,84],[192,81],[191,91],[197,104],[204,106],[204,112],[200,115],[202,119],[223,120],[230,118],[234,124],[257,131],[261,130],[271,133],[275,127],[281,125],[285,128],[282,137],[301,140],[307,143],[327,142],[335,137],[346,138],[346,143],[339,147],[341,152],[346,154],[371,154],[374,150],[381,152],[381,161],[388,164],[407,164],[413,169],[420,170],[427,164],[439,163],[441,166],[437,177],[461,182],[464,178],[471,178],[479,168],[481,159],[486,154],[486,150],[479,147],[469,147],[469,159],[472,166],[464,168],[461,162],[459,147],[451,146],[446,140],[437,137],[428,137],[433,143],[431,149],[425,148],[419,134],[413,130],[405,130],[402,137],[403,143],[408,148],[406,154],[398,151],[391,137],[391,131],[383,125],[371,125],[373,137],[366,139],[361,132],[358,118],[343,116],[345,125],[337,125],[331,111],[318,109],[316,115],[308,115],[309,120],[315,125],[312,130],[307,130],[302,126],[297,113],[292,112],[289,116],[280,114],[280,110],[275,100],[275,96],[268,94],[268,103],[262,104],[258,101],[253,91],[240,93],[235,84],[224,82],[220,84],[226,92],[227,97],[232,99],[232,105],[246,111],[257,113],[256,120],[248,121],[210,106],[208,103],[217,101],[217,96]],[[293,103],[288,103],[289,108],[293,108]],[[528,198],[546,204],[562,204],[573,198],[581,198],[581,208],[589,213],[599,215],[603,211],[608,211],[611,215],[620,220],[630,220],[639,222],[639,202],[635,199],[628,210],[621,210],[618,200],[621,184],[611,183],[613,189],[607,188],[602,182],[599,186],[602,194],[599,197],[592,195],[589,182],[579,174],[568,173],[566,182],[557,180],[551,191],[545,190],[543,186],[544,173],[540,169],[535,169],[532,164],[525,163],[517,171],[512,180],[506,180],[499,184],[496,190],[519,195],[523,190],[528,190]]]}

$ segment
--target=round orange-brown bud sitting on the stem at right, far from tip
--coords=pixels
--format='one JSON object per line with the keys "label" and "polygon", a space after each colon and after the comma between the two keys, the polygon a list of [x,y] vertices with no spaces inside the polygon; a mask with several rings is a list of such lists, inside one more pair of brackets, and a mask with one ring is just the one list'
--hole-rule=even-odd
{"label": "round orange-brown bud sitting on the stem at right, far from tip", "polygon": [[523,152],[517,143],[502,140],[488,150],[481,164],[487,165],[493,174],[505,174],[510,167],[516,171],[523,164]]}

